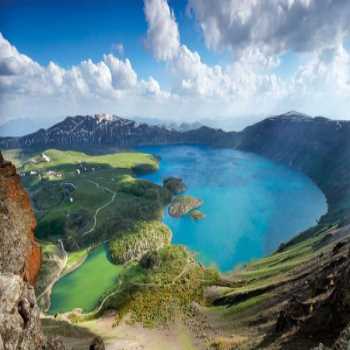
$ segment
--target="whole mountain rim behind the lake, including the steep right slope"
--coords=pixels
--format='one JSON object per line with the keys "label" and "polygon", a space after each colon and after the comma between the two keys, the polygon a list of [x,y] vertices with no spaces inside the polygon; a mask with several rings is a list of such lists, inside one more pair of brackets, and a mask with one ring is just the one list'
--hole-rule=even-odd
{"label": "whole mountain rim behind the lake, including the steep right slope", "polygon": [[109,147],[125,149],[139,145],[184,143],[254,152],[302,171],[326,194],[330,209],[328,215],[350,217],[347,200],[350,198],[349,121],[311,118],[288,112],[264,119],[241,132],[225,132],[207,126],[182,131],[181,128],[148,125],[106,114],[75,116],[26,136],[0,138],[0,149],[104,151]]}

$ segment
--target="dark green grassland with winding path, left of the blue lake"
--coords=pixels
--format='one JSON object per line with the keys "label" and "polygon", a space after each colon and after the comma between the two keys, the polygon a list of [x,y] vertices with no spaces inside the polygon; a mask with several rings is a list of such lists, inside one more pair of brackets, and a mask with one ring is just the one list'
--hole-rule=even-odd
{"label": "dark green grassland with winding path, left of the blue lake", "polygon": [[[42,160],[42,153],[49,162]],[[31,154],[36,163],[22,165],[22,172],[35,170],[40,175],[22,178],[36,210],[36,235],[44,240],[62,238],[70,252],[116,238],[137,221],[161,219],[163,206],[170,200],[167,190],[134,177],[134,171],[158,169],[158,160],[151,155],[122,152],[96,156],[52,149],[42,153]],[[13,157],[19,155],[20,151],[13,152]],[[52,179],[48,170],[62,177]],[[87,231],[90,233],[85,235]]]}

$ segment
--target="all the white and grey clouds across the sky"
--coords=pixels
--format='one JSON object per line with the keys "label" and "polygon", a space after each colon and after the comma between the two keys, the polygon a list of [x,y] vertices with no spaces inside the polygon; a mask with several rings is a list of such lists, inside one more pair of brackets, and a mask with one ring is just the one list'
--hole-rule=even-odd
{"label": "all the white and grey clouds across the sky", "polygon": [[[293,109],[350,118],[350,53],[343,44],[347,2],[337,1],[344,12],[338,21],[323,18],[326,4],[329,15],[338,13],[334,1],[317,3],[318,10],[314,0],[190,0],[208,46],[239,51],[227,64],[209,65],[181,43],[168,2],[145,0],[146,43],[155,59],[165,62],[170,92],[153,77],[139,76],[127,58],[108,54],[99,62],[86,59],[68,69],[53,62],[42,66],[0,35],[0,117],[105,111],[195,120]],[[296,13],[306,23],[295,22]],[[277,29],[271,27],[271,18]],[[315,23],[324,37],[313,32]],[[282,78],[275,68],[283,64],[280,52],[286,49],[307,53]]]}

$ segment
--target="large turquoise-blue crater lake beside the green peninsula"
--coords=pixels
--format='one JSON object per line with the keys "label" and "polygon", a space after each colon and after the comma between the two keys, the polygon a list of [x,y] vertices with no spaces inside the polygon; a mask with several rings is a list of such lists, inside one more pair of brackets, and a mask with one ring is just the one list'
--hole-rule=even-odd
{"label": "large turquoise-blue crater lake beside the green peninsula", "polygon": [[172,218],[173,243],[184,244],[199,260],[228,271],[262,257],[326,213],[323,193],[306,176],[256,155],[204,146],[147,146],[160,156],[160,170],[142,176],[162,183],[181,177],[187,193],[204,200],[205,219]]}

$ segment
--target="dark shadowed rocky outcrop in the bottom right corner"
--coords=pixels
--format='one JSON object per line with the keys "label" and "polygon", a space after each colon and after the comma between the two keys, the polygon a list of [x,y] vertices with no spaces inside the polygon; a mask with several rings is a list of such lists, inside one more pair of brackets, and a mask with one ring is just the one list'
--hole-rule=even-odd
{"label": "dark shadowed rocky outcrop in the bottom right corner", "polygon": [[[332,249],[279,312],[277,334],[293,330],[295,339],[319,339],[331,349],[350,345],[349,241]],[[339,245],[336,244],[334,248]],[[334,339],[336,341],[334,342]],[[321,345],[319,347],[328,349]]]}

